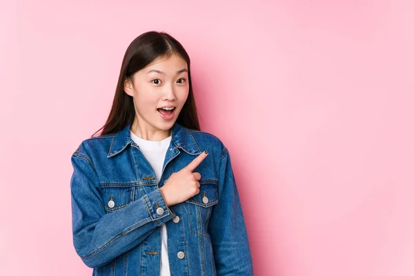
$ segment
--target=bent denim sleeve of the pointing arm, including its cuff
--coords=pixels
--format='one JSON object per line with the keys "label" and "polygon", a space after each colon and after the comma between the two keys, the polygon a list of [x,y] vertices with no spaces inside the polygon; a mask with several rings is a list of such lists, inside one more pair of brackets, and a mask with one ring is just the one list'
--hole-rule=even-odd
{"label": "bent denim sleeve of the pointing arm, including its cuff", "polygon": [[[166,206],[159,188],[124,208],[106,213],[91,159],[77,152],[71,161],[73,244],[87,266],[95,268],[107,264],[175,216]],[[159,207],[164,208],[162,215],[157,214]]]}

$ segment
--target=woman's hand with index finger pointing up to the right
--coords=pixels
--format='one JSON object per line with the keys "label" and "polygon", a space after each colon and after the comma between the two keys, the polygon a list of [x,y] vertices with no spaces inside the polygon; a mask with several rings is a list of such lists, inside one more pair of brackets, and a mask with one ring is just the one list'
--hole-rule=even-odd
{"label": "woman's hand with index finger pointing up to the right", "polygon": [[200,192],[199,180],[201,175],[199,172],[193,172],[193,170],[201,164],[201,161],[207,155],[208,150],[201,152],[201,155],[197,156],[186,167],[170,175],[164,186],[160,188],[167,206],[179,204]]}

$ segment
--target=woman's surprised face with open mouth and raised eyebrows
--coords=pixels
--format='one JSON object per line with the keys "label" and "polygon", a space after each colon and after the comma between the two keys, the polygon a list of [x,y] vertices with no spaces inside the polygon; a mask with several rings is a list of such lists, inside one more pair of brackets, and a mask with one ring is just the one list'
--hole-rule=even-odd
{"label": "woman's surprised face with open mouth and raised eyebrows", "polygon": [[[135,123],[141,131],[170,130],[188,97],[188,66],[177,55],[159,57],[126,80],[125,92],[134,98]],[[173,107],[171,111],[160,110]]]}

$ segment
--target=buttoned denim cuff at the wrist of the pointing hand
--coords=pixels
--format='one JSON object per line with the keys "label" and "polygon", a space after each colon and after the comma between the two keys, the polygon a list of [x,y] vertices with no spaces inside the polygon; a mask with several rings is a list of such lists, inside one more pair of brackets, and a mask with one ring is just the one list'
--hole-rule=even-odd
{"label": "buttoned denim cuff at the wrist of the pointing hand", "polygon": [[143,199],[148,209],[148,213],[155,224],[161,226],[175,217],[175,213],[172,211],[172,208],[168,208],[159,188],[144,195]]}

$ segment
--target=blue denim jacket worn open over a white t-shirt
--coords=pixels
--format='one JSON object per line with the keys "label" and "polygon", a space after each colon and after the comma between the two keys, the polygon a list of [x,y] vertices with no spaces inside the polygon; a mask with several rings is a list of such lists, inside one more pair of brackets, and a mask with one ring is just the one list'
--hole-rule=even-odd
{"label": "blue denim jacket worn open over a white t-shirt", "polygon": [[[253,275],[239,194],[224,144],[175,122],[161,181],[123,130],[82,141],[71,157],[73,244],[93,275],[159,276],[161,225],[172,276]],[[200,192],[166,206],[159,188],[197,155]]]}

